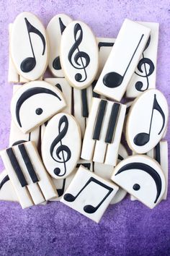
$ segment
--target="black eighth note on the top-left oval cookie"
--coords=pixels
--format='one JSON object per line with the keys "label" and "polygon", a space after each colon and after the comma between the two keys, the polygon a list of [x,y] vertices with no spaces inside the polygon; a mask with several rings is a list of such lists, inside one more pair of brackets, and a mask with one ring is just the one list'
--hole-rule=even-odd
{"label": "black eighth note on the top-left oval cookie", "polygon": [[32,47],[32,41],[31,41],[31,38],[30,38],[30,33],[35,33],[35,34],[40,36],[40,38],[42,40],[42,44],[43,44],[42,55],[44,55],[44,53],[45,53],[45,38],[42,35],[42,33],[40,33],[40,31],[37,30],[37,28],[33,27],[30,24],[30,22],[27,20],[27,18],[24,18],[24,20],[25,20],[25,23],[27,25],[27,32],[28,32],[28,36],[29,36],[29,40],[30,40],[30,46],[31,46],[32,55],[33,55],[33,57],[28,57],[28,58],[24,59],[22,61],[21,65],[20,65],[22,72],[27,73],[27,72],[32,71],[32,69],[34,69],[35,65],[36,65],[35,53],[34,53],[34,50],[33,50],[33,47]]}

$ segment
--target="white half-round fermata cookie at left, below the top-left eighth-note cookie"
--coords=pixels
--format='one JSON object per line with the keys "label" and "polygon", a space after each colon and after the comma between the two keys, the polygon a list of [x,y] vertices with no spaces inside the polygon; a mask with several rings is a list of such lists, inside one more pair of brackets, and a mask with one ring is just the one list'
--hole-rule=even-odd
{"label": "white half-round fermata cookie at left, below the top-left eighth-note cookie", "polygon": [[12,119],[22,132],[31,132],[66,106],[61,90],[48,82],[32,81],[14,93]]}

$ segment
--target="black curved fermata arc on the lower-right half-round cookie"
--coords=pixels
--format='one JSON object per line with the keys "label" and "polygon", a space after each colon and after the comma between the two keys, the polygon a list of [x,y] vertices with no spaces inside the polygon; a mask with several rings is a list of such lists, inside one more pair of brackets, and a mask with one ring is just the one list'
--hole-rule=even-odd
{"label": "black curved fermata arc on the lower-right half-round cookie", "polygon": [[117,174],[121,174],[122,171],[128,171],[133,169],[146,171],[147,174],[152,176],[152,178],[156,183],[156,189],[157,189],[156,200],[154,201],[154,203],[156,203],[159,195],[161,194],[161,188],[162,188],[161,177],[158,175],[157,171],[153,169],[151,166],[148,166],[148,164],[146,163],[128,163],[125,166],[122,166],[122,168],[120,168],[120,170],[117,171]]}

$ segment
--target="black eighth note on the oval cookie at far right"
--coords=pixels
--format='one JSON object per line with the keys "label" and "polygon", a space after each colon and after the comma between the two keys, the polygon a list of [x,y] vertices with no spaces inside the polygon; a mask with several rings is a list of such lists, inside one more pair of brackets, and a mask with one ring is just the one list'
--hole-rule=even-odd
{"label": "black eighth note on the oval cookie at far right", "polygon": [[154,94],[154,100],[153,100],[153,108],[152,108],[152,114],[151,114],[151,122],[150,122],[150,127],[149,127],[149,132],[140,132],[138,133],[138,135],[135,135],[135,138],[133,140],[133,142],[135,143],[135,145],[137,146],[143,146],[146,145],[146,143],[148,143],[148,141],[150,140],[150,135],[151,135],[151,125],[152,125],[152,119],[153,119],[153,110],[156,109],[162,116],[163,119],[163,124],[161,127],[160,132],[158,132],[158,135],[161,134],[162,129],[164,128],[164,124],[165,124],[165,114],[161,109],[161,106],[158,104],[158,101],[156,100],[156,94]]}

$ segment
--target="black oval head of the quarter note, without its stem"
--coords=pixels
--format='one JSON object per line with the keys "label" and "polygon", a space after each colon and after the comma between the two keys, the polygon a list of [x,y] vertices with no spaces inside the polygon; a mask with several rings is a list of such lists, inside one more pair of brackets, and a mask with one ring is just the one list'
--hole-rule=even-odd
{"label": "black oval head of the quarter note, without its stem", "polygon": [[108,88],[117,88],[121,85],[123,80],[123,77],[121,74],[118,74],[117,72],[109,72],[104,75],[103,77],[103,83]]}

